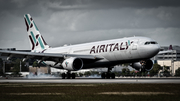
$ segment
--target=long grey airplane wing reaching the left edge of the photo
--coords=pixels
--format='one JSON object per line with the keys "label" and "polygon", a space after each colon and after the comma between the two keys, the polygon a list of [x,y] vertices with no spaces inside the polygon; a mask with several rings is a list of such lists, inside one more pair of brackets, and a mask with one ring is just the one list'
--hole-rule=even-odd
{"label": "long grey airplane wing reaching the left edge of the photo", "polygon": [[22,52],[22,51],[8,51],[8,50],[0,50],[0,55],[3,57],[18,57],[18,58],[24,58],[24,59],[38,59],[43,61],[60,61],[64,60],[68,57],[77,57],[82,60],[101,60],[103,59],[100,56],[95,55],[78,55],[78,54],[58,54],[58,53],[35,53],[35,52]]}

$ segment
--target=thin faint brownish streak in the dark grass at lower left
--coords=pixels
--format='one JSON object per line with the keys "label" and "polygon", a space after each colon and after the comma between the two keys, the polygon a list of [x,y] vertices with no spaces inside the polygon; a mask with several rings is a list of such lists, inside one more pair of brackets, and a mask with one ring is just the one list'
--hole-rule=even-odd
{"label": "thin faint brownish streak in the dark grass at lower left", "polygon": [[64,93],[5,93],[5,95],[64,95]]}

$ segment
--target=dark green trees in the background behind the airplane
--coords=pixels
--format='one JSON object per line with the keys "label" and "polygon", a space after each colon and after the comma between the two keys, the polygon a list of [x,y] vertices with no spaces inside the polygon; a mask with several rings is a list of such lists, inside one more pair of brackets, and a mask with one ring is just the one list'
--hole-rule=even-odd
{"label": "dark green trees in the background behind the airplane", "polygon": [[[22,62],[21,59],[15,58],[12,59],[11,62],[6,62],[5,63],[5,70],[6,72],[13,72],[14,75],[18,75],[20,72],[20,61],[21,61],[21,71],[29,71],[28,66],[26,65],[26,62]],[[30,63],[33,67],[39,67],[41,65],[39,65],[37,63],[36,60],[31,61]],[[124,64],[124,66],[127,66],[127,64]],[[161,72],[160,72],[161,71]],[[128,68],[124,67],[122,68],[121,71],[114,72],[116,76],[157,76],[158,74],[161,74],[163,76],[171,76],[171,71],[170,71],[170,67],[168,66],[160,66],[159,64],[155,63],[153,65],[153,68],[149,71],[149,72],[139,72],[136,70],[132,70],[130,71]],[[0,58],[0,75],[4,75],[3,74],[3,60]],[[99,72],[95,72],[95,71],[87,71],[84,74],[83,73],[79,73],[78,76],[90,76],[90,75],[100,75]],[[175,71],[175,76],[180,76],[180,68],[178,68]]]}

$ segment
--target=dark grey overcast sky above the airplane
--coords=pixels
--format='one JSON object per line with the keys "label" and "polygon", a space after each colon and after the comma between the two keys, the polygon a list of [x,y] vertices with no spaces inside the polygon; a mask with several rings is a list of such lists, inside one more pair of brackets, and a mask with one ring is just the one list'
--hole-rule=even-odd
{"label": "dark grey overcast sky above the airplane", "polygon": [[179,0],[0,0],[0,48],[30,49],[28,13],[52,47],[130,36],[180,45]]}

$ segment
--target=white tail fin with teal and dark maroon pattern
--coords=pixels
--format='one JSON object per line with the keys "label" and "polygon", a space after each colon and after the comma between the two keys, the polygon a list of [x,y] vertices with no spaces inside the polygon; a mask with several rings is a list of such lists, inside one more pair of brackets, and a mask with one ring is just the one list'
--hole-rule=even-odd
{"label": "white tail fin with teal and dark maroon pattern", "polygon": [[24,15],[24,20],[27,27],[31,52],[42,52],[43,50],[48,49],[49,46],[45,42],[43,36],[40,34],[39,29],[37,28],[30,14]]}

